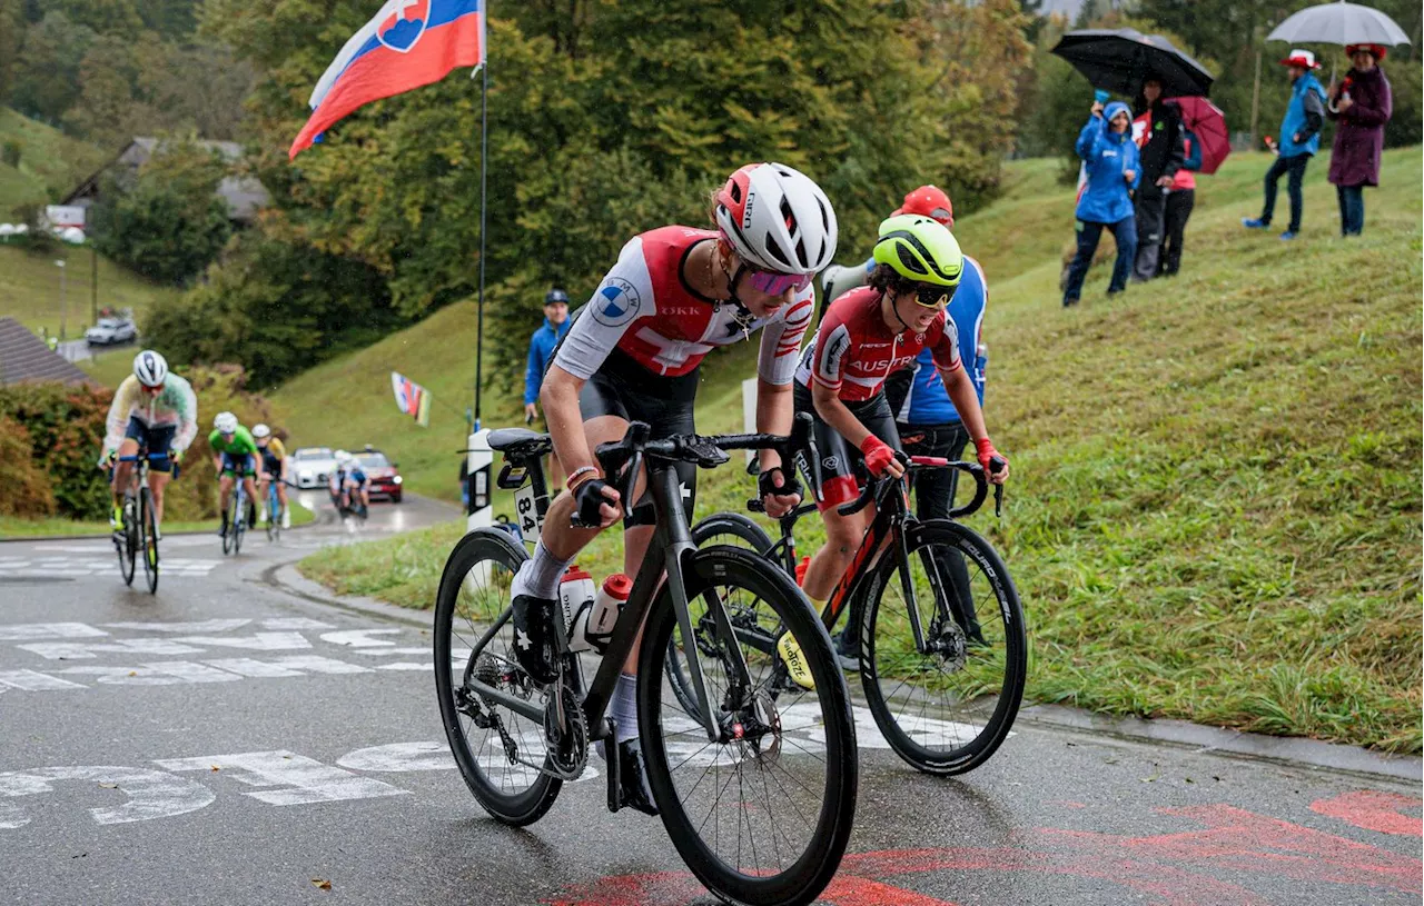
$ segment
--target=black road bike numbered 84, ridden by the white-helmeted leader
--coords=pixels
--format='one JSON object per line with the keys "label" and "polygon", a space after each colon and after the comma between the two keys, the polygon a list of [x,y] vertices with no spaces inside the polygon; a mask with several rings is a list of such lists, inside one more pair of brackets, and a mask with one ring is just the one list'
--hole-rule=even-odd
{"label": "black road bike numbered 84, ridden by the white-helmeted leader", "polygon": [[[805,428],[802,428],[805,430]],[[514,657],[510,580],[528,555],[500,528],[476,529],[450,553],[436,600],[436,690],[446,735],[476,799],[523,826],[544,816],[594,742],[615,738],[605,715],[619,668],[638,640],[638,724],[646,778],[662,824],[692,873],[728,902],[810,903],[844,855],[859,768],[844,678],[826,627],[796,583],[765,558],[732,546],[698,549],[682,512],[675,464],[725,464],[728,449],[786,448],[792,438],[749,434],[651,441],[632,422],[597,451],[622,499],[641,467],[656,526],[632,593],[592,681],[558,624],[560,676],[537,684]],[[548,506],[541,467],[551,442],[524,428],[493,431],[503,488],[518,489],[534,528]],[[527,505],[525,505],[527,503]],[[692,612],[705,623],[693,637]],[[790,633],[815,690],[789,681],[779,659],[743,644],[750,616]],[[695,651],[688,659],[684,649]],[[669,651],[686,670],[685,708],[665,681]],[[601,765],[608,808],[619,808],[618,758]]]}

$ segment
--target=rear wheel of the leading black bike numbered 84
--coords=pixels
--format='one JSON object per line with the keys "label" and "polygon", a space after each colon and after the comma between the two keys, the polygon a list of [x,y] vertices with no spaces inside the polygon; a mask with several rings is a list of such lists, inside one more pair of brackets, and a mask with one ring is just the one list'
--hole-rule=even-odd
{"label": "rear wheel of the leading black bike numbered 84", "polygon": [[[450,742],[450,752],[454,755],[456,765],[460,768],[460,775],[464,777],[466,785],[484,811],[496,819],[518,828],[534,824],[548,812],[558,796],[558,791],[562,788],[562,781],[547,774],[535,774],[527,768],[521,769],[518,765],[511,764],[503,750],[498,748],[501,740],[497,732],[486,738],[486,741],[491,738],[494,741],[490,752],[486,751],[484,742],[477,750],[471,750],[467,725],[476,730],[478,727],[474,717],[461,710],[457,701],[457,680],[453,676],[451,666],[456,663],[454,656],[460,653],[454,650],[454,640],[459,639],[461,647],[466,644],[470,647],[470,653],[461,663],[460,686],[464,684],[464,674],[477,668],[481,663],[481,656],[488,653],[490,660],[484,663],[498,664],[501,683],[521,691],[533,688],[525,687],[521,681],[520,676],[523,670],[514,661],[514,627],[508,619],[507,595],[496,602],[480,602],[480,589],[471,589],[470,586],[470,577],[477,575],[481,565],[486,566],[491,579],[501,576],[496,570],[503,570],[504,575],[513,577],[514,570],[527,559],[528,553],[523,545],[514,543],[500,529],[487,528],[470,532],[460,539],[446,560],[444,572],[440,575],[440,589],[436,593],[434,616],[436,694],[440,698],[440,717],[444,724],[446,740]],[[490,586],[493,585],[490,583]],[[491,587],[488,590],[497,589]],[[491,626],[498,626],[498,629],[490,636],[487,629],[476,624],[474,617],[488,617]],[[457,626],[460,624],[466,626],[467,631],[459,631]],[[486,640],[486,636],[490,637]],[[504,637],[503,640],[501,636]],[[481,640],[486,643],[480,644]],[[500,646],[503,646],[503,650]],[[527,674],[523,676],[524,680],[528,678]],[[490,713],[497,713],[497,710],[490,708]],[[513,721],[513,713],[506,710],[504,714],[510,714]],[[504,720],[503,715],[501,720]],[[537,727],[535,731],[535,745],[541,745],[544,738],[543,727]],[[508,732],[507,728],[506,732]],[[513,734],[510,735],[513,737]],[[523,731],[518,735],[521,742],[528,740]],[[510,774],[510,768],[514,768],[513,772],[515,774],[524,777],[533,775],[525,789],[520,792],[514,792],[510,788],[501,789],[501,784],[493,777],[493,768],[501,760],[506,762],[506,774]]]}

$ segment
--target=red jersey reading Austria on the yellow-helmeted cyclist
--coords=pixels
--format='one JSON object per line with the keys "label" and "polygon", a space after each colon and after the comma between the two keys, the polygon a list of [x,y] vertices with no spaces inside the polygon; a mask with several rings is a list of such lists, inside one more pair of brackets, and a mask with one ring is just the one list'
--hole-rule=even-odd
{"label": "red jersey reading Austria on the yellow-helmeted cyclist", "polygon": [[928,347],[941,374],[960,367],[958,331],[944,311],[924,333],[894,333],[880,316],[880,290],[850,290],[826,309],[816,336],[806,346],[796,381],[830,387],[847,403],[880,393],[886,378],[909,367]]}

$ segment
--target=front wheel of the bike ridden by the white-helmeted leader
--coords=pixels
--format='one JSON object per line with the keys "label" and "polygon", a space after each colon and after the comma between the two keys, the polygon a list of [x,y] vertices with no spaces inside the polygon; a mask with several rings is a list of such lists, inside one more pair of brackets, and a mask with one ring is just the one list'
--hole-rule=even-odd
{"label": "front wheel of the bike ridden by the white-helmeted leader", "polygon": [[[749,550],[703,548],[688,558],[689,599],[756,613],[790,633],[815,688],[792,684],[779,657],[715,626],[685,651],[702,667],[719,738],[686,713],[665,678],[678,624],[665,585],[644,630],[638,723],[662,824],[706,888],[736,903],[810,903],[830,883],[850,838],[859,787],[854,725],[830,636],[790,576]],[[718,614],[715,610],[712,616]],[[739,666],[749,676],[740,676]]]}

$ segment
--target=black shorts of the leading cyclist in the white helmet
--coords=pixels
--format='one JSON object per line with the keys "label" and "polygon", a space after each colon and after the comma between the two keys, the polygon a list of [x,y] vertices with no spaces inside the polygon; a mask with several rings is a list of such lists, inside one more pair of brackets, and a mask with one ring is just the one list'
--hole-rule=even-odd
{"label": "black shorts of the leading cyclist in the white helmet", "polygon": [[[652,374],[617,348],[608,354],[578,394],[578,410],[584,421],[598,415],[614,415],[624,421],[645,421],[652,427],[652,439],[675,434],[692,434],[696,428],[692,404],[698,395],[698,368],[681,377]],[[678,484],[682,486],[682,512],[692,519],[698,494],[698,467],[678,462]],[[646,492],[632,512],[624,518],[624,528],[654,525],[656,516],[652,496]]]}

